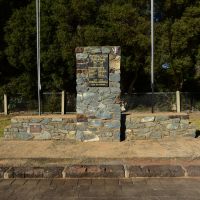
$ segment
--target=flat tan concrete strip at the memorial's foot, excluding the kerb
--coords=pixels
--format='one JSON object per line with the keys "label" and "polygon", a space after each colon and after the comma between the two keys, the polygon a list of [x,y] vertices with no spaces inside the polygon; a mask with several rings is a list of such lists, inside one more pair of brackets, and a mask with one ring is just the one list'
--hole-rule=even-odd
{"label": "flat tan concrete strip at the memorial's foot, excluding the kerb", "polygon": [[199,138],[133,142],[9,141],[0,139],[0,159],[190,158],[200,157]]}

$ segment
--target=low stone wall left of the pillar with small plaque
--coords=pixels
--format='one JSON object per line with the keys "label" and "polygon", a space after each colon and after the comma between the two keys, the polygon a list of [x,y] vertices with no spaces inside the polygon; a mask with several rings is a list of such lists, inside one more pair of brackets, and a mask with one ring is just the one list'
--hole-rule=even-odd
{"label": "low stone wall left of the pillar with small plaque", "polygon": [[19,116],[4,130],[6,139],[64,140],[76,139],[76,115]]}

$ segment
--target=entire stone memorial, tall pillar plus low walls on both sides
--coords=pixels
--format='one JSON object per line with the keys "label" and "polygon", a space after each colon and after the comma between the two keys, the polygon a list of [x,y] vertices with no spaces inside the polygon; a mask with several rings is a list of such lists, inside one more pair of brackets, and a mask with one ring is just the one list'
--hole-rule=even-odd
{"label": "entire stone memorial, tall pillar plus low walls on both sides", "polygon": [[76,48],[76,114],[19,116],[6,139],[120,141],[195,137],[187,114],[121,114],[118,46]]}

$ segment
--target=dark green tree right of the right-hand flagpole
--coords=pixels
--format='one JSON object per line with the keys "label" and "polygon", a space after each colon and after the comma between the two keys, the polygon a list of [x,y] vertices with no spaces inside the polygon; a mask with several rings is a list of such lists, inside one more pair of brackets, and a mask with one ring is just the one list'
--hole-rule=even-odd
{"label": "dark green tree right of the right-hand flagpole", "polygon": [[[156,30],[156,81],[160,88],[182,90],[195,77],[200,33],[199,4],[166,1],[164,20]],[[178,8],[175,12],[174,8]],[[167,64],[169,69],[162,69]]]}

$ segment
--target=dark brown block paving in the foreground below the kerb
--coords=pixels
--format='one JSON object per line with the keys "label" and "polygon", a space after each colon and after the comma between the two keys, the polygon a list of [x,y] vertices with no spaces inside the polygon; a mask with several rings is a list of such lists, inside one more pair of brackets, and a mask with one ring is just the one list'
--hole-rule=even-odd
{"label": "dark brown block paving in the foreground below the kerb", "polygon": [[199,200],[200,178],[0,179],[0,200]]}

